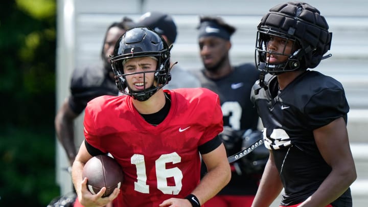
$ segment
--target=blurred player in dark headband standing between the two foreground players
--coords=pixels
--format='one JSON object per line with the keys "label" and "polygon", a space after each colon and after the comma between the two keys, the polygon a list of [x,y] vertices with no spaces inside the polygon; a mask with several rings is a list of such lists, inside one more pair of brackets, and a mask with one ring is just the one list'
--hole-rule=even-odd
{"label": "blurred player in dark headband standing between the two foreground players", "polygon": [[[259,78],[259,72],[254,64],[231,64],[230,38],[236,28],[221,17],[202,16],[197,29],[204,68],[198,70],[196,75],[202,87],[211,89],[220,97],[224,121],[224,131],[220,137],[227,156],[231,156],[242,150],[243,143],[248,147],[262,137],[257,130],[257,110],[250,101],[251,87]],[[248,140],[250,137],[252,140]],[[268,150],[262,145],[233,163],[231,181],[205,206],[250,206],[267,158]],[[205,166],[202,171],[205,172]]]}

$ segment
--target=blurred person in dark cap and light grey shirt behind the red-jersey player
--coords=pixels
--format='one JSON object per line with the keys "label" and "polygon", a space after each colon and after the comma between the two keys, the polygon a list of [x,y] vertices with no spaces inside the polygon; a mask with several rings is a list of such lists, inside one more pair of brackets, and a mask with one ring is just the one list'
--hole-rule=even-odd
{"label": "blurred person in dark cap and light grey shirt behind the red-jersey player", "polygon": [[[147,12],[140,17],[136,25],[149,27],[156,31],[164,37],[168,45],[173,44],[176,40],[176,24],[171,15],[167,13]],[[192,73],[181,68],[179,64],[171,62],[171,66],[171,77],[175,81],[168,83],[164,89],[200,87],[199,80]]]}

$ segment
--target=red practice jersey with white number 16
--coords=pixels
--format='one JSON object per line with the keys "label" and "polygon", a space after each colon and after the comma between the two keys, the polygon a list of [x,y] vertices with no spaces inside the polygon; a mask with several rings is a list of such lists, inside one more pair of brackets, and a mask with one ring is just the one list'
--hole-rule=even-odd
{"label": "red practice jersey with white number 16", "polygon": [[86,142],[123,168],[119,206],[157,207],[189,195],[200,180],[198,146],[223,130],[220,100],[211,90],[165,91],[171,108],[157,126],[142,118],[130,96],[98,97],[85,109]]}

